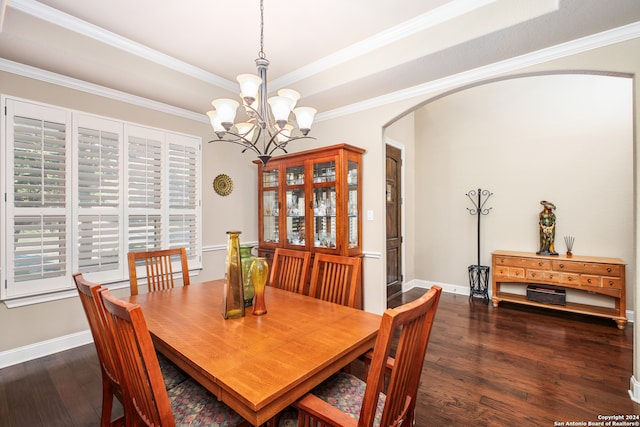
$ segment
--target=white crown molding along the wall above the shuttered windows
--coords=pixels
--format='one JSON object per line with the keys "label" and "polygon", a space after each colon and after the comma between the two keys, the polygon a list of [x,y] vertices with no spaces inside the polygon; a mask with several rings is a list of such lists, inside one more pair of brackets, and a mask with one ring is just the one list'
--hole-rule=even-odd
{"label": "white crown molding along the wall above the shuttered windows", "polygon": [[141,96],[132,95],[130,93],[110,89],[108,87],[85,82],[83,80],[74,79],[62,74],[52,73],[51,71],[42,70],[40,68],[31,67],[14,61],[0,58],[0,71],[16,74],[23,77],[63,86],[69,89],[79,90],[81,92],[92,95],[102,96],[122,101],[139,107],[149,108],[154,111],[171,114],[173,116],[182,117],[198,122],[209,123],[209,118],[202,113],[185,110],[183,108],[174,107],[173,105],[164,104],[162,102],[153,101]]}

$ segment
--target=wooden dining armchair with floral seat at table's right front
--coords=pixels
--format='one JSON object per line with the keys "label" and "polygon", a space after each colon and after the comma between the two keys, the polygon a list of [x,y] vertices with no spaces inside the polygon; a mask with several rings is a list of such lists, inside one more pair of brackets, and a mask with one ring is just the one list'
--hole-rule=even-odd
{"label": "wooden dining armchair with floral seat at table's right front", "polygon": [[[442,288],[382,315],[366,382],[341,371],[296,403],[299,426],[412,426],[422,365]],[[397,337],[397,338],[396,338]],[[395,341],[397,339],[397,341]],[[397,342],[396,352],[390,357]],[[295,423],[289,423],[292,425]]]}

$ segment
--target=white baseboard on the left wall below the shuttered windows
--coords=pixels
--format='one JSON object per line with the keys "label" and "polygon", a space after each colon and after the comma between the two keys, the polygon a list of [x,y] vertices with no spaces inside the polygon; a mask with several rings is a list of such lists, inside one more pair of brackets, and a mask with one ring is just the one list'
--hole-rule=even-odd
{"label": "white baseboard on the left wall below the shuttered windows", "polygon": [[13,348],[11,350],[0,352],[0,369],[37,359],[39,357],[48,356],[60,351],[69,350],[81,345],[90,344],[92,342],[93,337],[91,336],[91,332],[87,329],[83,332],[77,332],[75,334],[25,345],[24,347]]}

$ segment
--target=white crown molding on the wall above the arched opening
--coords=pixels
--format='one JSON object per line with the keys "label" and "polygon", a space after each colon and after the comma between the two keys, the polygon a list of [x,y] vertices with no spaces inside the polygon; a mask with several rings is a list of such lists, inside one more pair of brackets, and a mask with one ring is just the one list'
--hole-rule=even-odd
{"label": "white crown molding on the wall above the arched opening", "polygon": [[463,73],[454,74],[442,79],[381,95],[362,102],[325,111],[316,115],[315,122],[331,120],[394,102],[404,101],[418,96],[436,94],[444,90],[455,89],[462,85],[479,82],[504,73],[517,71],[543,62],[576,55],[589,50],[636,39],[638,37],[640,37],[640,22],[634,22],[633,24],[625,25],[613,30],[604,31],[602,33],[541,49],[484,67],[475,68]]}

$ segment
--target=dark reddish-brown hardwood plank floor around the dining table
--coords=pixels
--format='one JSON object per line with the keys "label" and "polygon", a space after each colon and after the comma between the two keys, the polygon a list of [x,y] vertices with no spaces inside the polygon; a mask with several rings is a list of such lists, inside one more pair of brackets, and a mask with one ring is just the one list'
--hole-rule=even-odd
{"label": "dark reddish-brown hardwood plank floor around the dining table", "polygon": [[[416,425],[587,425],[599,415],[640,414],[628,395],[633,326],[620,331],[607,319],[510,304],[495,309],[442,294]],[[0,426],[98,426],[101,393],[93,345],[4,368]]]}

